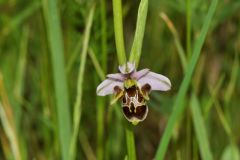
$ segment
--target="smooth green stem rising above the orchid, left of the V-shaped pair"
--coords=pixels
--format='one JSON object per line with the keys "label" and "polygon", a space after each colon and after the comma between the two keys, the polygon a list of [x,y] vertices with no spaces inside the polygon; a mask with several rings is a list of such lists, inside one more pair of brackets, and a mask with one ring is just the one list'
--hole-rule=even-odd
{"label": "smooth green stem rising above the orchid, left of the V-shaped pair", "polygon": [[122,24],[122,2],[121,0],[113,0],[113,20],[114,20],[114,33],[117,48],[117,56],[119,64],[126,63],[126,54],[123,38],[123,24]]}

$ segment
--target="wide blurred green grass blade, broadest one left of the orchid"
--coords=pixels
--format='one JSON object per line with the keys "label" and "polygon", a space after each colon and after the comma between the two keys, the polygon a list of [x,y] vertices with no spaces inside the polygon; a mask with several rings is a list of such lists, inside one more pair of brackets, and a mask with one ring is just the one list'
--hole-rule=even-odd
{"label": "wide blurred green grass blade, broadest one left of the orchid", "polygon": [[57,10],[57,0],[43,0],[42,2],[53,65],[60,148],[63,160],[68,160],[72,127],[69,113],[69,95],[64,67],[63,39]]}

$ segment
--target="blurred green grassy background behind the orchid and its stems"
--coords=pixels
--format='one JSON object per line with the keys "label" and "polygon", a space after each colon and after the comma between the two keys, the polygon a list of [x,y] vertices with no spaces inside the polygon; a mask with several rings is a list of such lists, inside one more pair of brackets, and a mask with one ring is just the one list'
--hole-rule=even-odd
{"label": "blurred green grassy background behind the orchid and its stems", "polygon": [[[122,1],[127,54],[139,3]],[[149,0],[138,68],[166,75],[172,89],[151,93],[147,119],[134,127],[137,159],[156,154],[184,77],[179,55],[189,61],[209,5]],[[240,1],[220,0],[165,159],[202,159],[192,92],[213,159],[240,159],[239,27]],[[68,159],[73,137],[76,159],[124,159],[129,122],[120,103],[96,96],[117,66],[112,1],[0,0],[0,159]]]}

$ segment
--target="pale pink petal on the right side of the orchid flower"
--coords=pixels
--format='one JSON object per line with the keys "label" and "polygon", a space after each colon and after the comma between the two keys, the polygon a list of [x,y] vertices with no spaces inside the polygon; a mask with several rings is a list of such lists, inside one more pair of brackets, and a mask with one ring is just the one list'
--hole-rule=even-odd
{"label": "pale pink petal on the right side of the orchid flower", "polygon": [[167,77],[154,72],[149,72],[140,78],[138,83],[140,83],[141,86],[149,84],[151,86],[151,90],[167,91],[171,89],[170,80]]}

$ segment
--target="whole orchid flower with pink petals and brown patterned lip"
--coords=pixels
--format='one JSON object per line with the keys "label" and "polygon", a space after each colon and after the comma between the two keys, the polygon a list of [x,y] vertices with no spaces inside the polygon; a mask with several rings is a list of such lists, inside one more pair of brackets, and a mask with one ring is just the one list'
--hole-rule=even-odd
{"label": "whole orchid flower with pink petals and brown patterned lip", "polygon": [[108,74],[97,87],[98,96],[115,94],[113,102],[122,101],[125,118],[133,124],[145,120],[148,114],[146,101],[151,91],[167,91],[171,89],[170,80],[149,69],[136,71],[135,64],[128,62],[119,66],[120,73]]}

